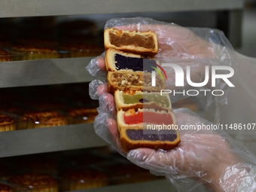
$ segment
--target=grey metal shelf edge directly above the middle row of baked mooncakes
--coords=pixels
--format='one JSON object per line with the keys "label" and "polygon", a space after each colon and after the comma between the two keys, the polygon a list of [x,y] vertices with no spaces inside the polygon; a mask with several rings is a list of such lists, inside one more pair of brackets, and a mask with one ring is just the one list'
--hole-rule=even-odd
{"label": "grey metal shelf edge directly above the middle row of baked mooncakes", "polygon": [[92,57],[0,62],[0,87],[90,82],[85,67]]}

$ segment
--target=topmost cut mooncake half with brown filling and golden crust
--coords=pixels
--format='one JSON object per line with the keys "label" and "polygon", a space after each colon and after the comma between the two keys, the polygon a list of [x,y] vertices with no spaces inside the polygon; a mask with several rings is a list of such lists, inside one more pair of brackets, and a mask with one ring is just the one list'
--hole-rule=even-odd
{"label": "topmost cut mooncake half with brown filling and golden crust", "polygon": [[114,48],[145,56],[154,56],[158,52],[157,35],[154,32],[130,32],[120,29],[105,29],[105,49]]}

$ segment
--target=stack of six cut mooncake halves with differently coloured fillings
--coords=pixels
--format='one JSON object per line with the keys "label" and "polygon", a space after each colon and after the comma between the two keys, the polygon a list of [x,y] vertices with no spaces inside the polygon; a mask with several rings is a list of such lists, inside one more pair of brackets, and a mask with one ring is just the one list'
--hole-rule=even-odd
{"label": "stack of six cut mooncake halves with differently coloured fillings", "polygon": [[151,31],[105,29],[104,44],[108,89],[117,106],[123,150],[174,148],[180,142],[178,130],[156,133],[156,127],[159,131],[173,128],[176,123],[169,95],[160,94],[166,87],[164,75],[156,73],[152,86],[151,72],[160,72],[154,59],[158,52],[157,35]]}

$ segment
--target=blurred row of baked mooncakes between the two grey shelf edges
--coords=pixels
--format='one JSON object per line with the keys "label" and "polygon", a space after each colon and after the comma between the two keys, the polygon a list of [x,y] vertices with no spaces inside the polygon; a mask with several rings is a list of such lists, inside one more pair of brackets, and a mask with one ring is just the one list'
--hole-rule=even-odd
{"label": "blurred row of baked mooncakes between the two grey shelf edges", "polygon": [[[15,109],[9,108],[9,110]],[[0,110],[0,132],[93,123],[98,114],[96,108],[70,108],[68,111],[62,112],[35,110],[17,112],[16,110],[17,114],[6,111]]]}

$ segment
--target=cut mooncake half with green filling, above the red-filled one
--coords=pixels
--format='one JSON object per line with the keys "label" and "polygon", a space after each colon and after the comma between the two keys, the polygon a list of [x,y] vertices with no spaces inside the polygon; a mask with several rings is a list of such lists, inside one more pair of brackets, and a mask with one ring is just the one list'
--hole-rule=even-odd
{"label": "cut mooncake half with green filling, above the red-filled one", "polygon": [[130,108],[154,108],[155,110],[172,110],[172,103],[169,94],[160,92],[146,92],[141,90],[117,90],[114,93],[114,99],[117,111],[123,109],[127,111]]}

